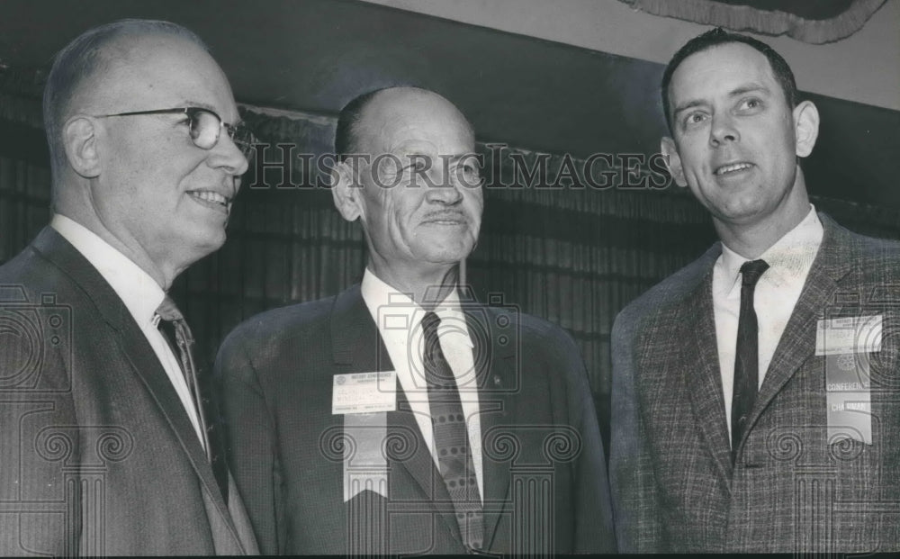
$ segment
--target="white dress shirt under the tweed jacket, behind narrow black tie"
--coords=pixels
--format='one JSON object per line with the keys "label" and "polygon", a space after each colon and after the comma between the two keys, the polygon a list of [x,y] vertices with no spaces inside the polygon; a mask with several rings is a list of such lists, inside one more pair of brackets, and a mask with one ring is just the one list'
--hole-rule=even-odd
{"label": "white dress shirt under the tweed jacket, behind narrow black tie", "polygon": [[[788,231],[761,255],[769,269],[761,275],[753,295],[753,309],[759,324],[760,386],[769,369],[781,334],[788,325],[806,275],[822,245],[822,222],[811,207],[806,218]],[[713,309],[716,315],[716,345],[719,371],[725,397],[725,420],[731,437],[731,404],[734,392],[734,353],[737,346],[737,322],[741,314],[742,257],[722,244],[722,254],[713,267]]]}

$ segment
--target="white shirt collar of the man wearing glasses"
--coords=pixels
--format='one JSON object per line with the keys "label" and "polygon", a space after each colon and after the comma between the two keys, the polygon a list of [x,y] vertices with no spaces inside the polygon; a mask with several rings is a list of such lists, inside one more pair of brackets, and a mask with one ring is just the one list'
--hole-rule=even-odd
{"label": "white shirt collar of the man wearing glasses", "polygon": [[131,316],[143,327],[156,325],[156,312],[166,292],[140,266],[84,225],[58,213],[50,227],[63,236],[112,286]]}

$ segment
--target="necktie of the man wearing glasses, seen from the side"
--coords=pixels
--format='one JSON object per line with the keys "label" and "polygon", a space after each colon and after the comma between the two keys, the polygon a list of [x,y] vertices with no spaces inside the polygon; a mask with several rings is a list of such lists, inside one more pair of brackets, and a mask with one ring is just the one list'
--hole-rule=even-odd
{"label": "necktie of the man wearing glasses, seen from the side", "polygon": [[[216,483],[222,493],[222,498],[228,502],[228,464],[223,452],[224,445],[220,439],[220,428],[215,413],[216,408],[212,401],[211,386],[207,383],[201,385],[198,382],[197,367],[193,362],[193,334],[184,320],[184,315],[175,306],[175,302],[166,295],[166,298],[157,308],[159,315],[159,327],[165,334],[169,345],[172,345],[173,333],[175,334],[175,347],[178,359],[181,362],[181,371],[184,380],[193,396],[193,404],[200,420],[200,431],[203,435],[203,446],[206,447],[206,457],[212,466],[212,473],[216,477]],[[174,332],[172,331],[174,330]]]}

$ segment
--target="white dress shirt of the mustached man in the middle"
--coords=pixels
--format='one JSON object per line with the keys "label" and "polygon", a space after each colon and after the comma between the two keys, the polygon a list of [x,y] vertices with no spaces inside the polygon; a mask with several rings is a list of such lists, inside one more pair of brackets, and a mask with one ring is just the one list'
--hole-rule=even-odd
{"label": "white dress shirt of the mustached man in the middle", "polygon": [[[428,405],[428,383],[422,366],[422,317],[426,311],[406,293],[385,284],[368,268],[360,286],[363,301],[368,307],[378,332],[384,340],[391,362],[397,372],[401,389],[410,401],[425,444],[440,469],[435,450],[435,435],[431,427]],[[473,343],[460,308],[459,293],[453,290],[437,305],[435,313],[441,319],[437,338],[447,363],[453,370],[460,401],[463,404],[465,426],[469,434],[469,448],[475,468],[478,491],[484,500],[482,485],[482,424],[479,416],[478,391],[475,378]]]}

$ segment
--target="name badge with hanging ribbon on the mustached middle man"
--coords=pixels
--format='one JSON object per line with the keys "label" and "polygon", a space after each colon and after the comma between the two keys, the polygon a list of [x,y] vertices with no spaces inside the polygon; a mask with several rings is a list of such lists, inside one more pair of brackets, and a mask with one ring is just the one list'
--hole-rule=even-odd
{"label": "name badge with hanging ribbon on the mustached middle man", "polygon": [[344,502],[363,491],[388,498],[383,453],[387,412],[397,409],[397,373],[336,374],[331,411],[344,416]]}

